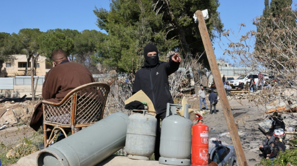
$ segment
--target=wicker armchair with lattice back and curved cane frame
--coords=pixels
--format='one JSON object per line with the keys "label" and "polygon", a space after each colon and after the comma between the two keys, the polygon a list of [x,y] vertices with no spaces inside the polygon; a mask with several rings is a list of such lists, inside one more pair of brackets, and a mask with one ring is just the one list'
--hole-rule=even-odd
{"label": "wicker armchair with lattice back and curved cane frame", "polygon": [[[88,83],[70,91],[59,103],[43,101],[44,147],[60,132],[67,137],[65,130],[74,134],[75,129],[101,120],[109,90],[108,84]],[[48,131],[51,135],[47,141]]]}

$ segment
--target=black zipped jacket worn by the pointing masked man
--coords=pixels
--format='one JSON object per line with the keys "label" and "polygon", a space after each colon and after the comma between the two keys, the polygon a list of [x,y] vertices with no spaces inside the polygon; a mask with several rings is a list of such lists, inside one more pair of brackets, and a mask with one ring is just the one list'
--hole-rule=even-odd
{"label": "black zipped jacket worn by the pointing masked man", "polygon": [[159,61],[157,65],[145,65],[136,72],[133,93],[142,90],[153,102],[157,114],[166,111],[167,103],[174,103],[169,91],[168,76],[179,69],[179,62],[174,62],[169,57],[169,62]]}

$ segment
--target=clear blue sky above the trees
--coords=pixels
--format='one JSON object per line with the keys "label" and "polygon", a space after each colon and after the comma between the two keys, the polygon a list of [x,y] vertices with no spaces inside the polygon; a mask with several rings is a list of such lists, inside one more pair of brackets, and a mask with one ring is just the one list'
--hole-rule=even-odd
{"label": "clear blue sky above the trees", "polygon": [[[253,18],[260,16],[264,9],[264,0],[219,0],[220,17],[224,29],[238,31],[239,24],[244,23],[242,34],[249,30],[256,30]],[[293,0],[293,5],[297,0]],[[23,28],[39,28],[40,31],[49,29],[75,29],[78,31],[97,30],[96,16],[93,13],[95,6],[109,9],[108,0],[9,0],[0,1],[0,32],[18,33]],[[222,37],[214,41],[216,57],[230,59],[223,55],[218,43],[227,43]],[[224,49],[224,48],[223,48]],[[231,62],[232,63],[232,62]]]}

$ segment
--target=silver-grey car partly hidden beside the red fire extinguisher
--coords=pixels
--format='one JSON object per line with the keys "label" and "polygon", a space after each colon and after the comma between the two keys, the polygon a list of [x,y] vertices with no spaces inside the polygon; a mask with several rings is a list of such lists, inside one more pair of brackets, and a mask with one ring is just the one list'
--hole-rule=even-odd
{"label": "silver-grey car partly hidden beside the red fire extinguisher", "polygon": [[219,166],[232,165],[237,166],[237,157],[234,146],[217,144],[209,146],[210,159]]}

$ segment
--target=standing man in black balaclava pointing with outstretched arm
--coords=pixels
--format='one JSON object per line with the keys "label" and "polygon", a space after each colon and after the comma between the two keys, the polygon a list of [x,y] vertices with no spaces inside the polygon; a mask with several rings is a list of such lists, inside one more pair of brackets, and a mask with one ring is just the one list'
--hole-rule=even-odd
{"label": "standing man in black balaclava pointing with outstretched arm", "polygon": [[159,52],[154,44],[148,44],[143,49],[144,66],[135,74],[133,94],[142,90],[153,102],[157,112],[157,135],[155,144],[155,160],[159,160],[160,119],[166,115],[167,103],[174,103],[169,92],[168,76],[179,69],[181,58],[178,54],[170,55],[168,62],[159,61]]}

